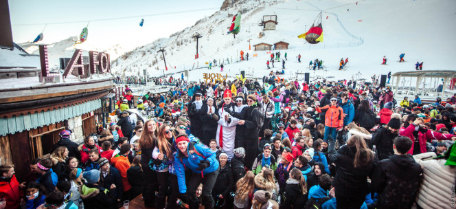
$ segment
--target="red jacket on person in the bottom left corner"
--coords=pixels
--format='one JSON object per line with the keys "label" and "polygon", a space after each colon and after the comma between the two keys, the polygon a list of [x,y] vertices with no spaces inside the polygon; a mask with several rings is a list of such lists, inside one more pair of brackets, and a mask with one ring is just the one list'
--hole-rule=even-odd
{"label": "red jacket on person in the bottom left corner", "polygon": [[11,179],[0,178],[0,197],[5,198],[6,208],[19,208],[21,194],[16,175],[12,175]]}

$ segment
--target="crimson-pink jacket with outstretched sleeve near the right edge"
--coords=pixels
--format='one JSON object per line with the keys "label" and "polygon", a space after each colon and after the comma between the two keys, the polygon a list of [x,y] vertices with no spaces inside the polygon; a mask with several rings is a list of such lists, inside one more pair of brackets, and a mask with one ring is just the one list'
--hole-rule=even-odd
{"label": "crimson-pink jacket with outstretched sleeve near the right edge", "polygon": [[[400,135],[407,136],[410,138],[412,142],[413,140],[413,131],[415,131],[415,124],[410,124],[407,128],[404,129],[402,127],[400,129]],[[451,137],[456,136],[453,134],[447,134],[447,133],[438,133],[435,131],[431,131],[428,129],[426,133],[421,133],[421,131],[418,131],[418,139],[420,140],[420,151],[421,153],[426,153],[426,141],[427,140],[451,140]],[[411,144],[411,149],[409,150],[408,154],[413,155],[413,145],[414,143]]]}

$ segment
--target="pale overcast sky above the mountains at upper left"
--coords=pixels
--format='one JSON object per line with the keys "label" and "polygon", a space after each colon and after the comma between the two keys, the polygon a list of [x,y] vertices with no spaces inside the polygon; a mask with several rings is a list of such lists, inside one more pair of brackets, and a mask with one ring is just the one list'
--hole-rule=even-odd
{"label": "pale overcast sky above the mountains at upper left", "polygon": [[[218,11],[223,0],[9,0],[8,3],[16,43],[33,41],[43,29],[43,43],[79,36],[92,20],[87,44],[137,47],[194,25],[198,19]],[[181,12],[189,10],[200,11]],[[169,12],[174,13],[163,14]],[[109,20],[95,21],[100,19]],[[143,27],[139,26],[141,19],[144,19]],[[48,23],[46,27],[45,23]]]}

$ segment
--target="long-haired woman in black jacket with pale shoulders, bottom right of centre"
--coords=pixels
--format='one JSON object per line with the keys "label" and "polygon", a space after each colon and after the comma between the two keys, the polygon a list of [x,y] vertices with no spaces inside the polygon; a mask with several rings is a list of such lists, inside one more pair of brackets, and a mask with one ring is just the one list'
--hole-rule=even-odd
{"label": "long-haired woman in black jacket with pale shoulders, bottom right of centre", "polygon": [[282,208],[301,208],[307,201],[307,184],[301,170],[293,168],[286,180]]}

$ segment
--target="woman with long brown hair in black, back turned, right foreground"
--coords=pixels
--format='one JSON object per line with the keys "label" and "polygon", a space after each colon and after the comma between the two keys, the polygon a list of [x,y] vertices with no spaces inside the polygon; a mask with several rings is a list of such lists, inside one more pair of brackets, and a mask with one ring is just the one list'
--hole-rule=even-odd
{"label": "woman with long brown hair in black, back turned, right foreground", "polygon": [[367,176],[374,172],[374,153],[358,135],[352,135],[346,146],[341,146],[335,159],[337,172],[335,188],[337,208],[361,208],[369,187]]}

